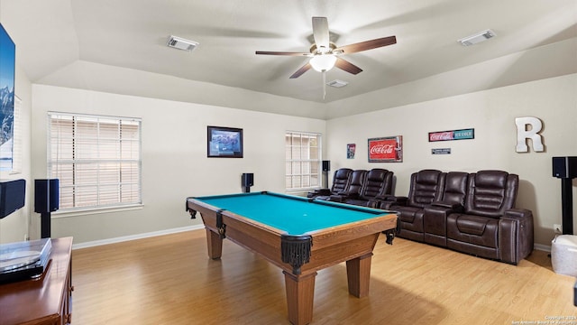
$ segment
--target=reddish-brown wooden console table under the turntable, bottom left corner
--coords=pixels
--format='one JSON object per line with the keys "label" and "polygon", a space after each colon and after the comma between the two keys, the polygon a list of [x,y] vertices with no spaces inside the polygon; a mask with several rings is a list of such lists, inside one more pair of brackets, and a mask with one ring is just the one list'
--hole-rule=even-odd
{"label": "reddish-brown wooden console table under the turntable, bottom left corner", "polygon": [[72,237],[51,239],[50,265],[40,278],[0,284],[0,325],[69,324]]}

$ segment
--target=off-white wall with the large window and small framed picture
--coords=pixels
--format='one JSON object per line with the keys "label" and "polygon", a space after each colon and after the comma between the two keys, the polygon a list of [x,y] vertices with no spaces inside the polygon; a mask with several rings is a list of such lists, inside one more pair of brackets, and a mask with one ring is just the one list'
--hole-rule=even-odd
{"label": "off-white wall with the large window and small framed picture", "polygon": [[[90,90],[32,86],[32,177],[45,178],[47,112],[142,118],[143,208],[75,217],[52,214],[52,237],[75,244],[201,223],[185,211],[188,196],[240,192],[241,174],[254,173],[252,191],[284,191],[286,130],[325,134],[325,121]],[[206,125],[243,129],[244,158],[206,158]],[[33,228],[39,228],[32,225]]]}

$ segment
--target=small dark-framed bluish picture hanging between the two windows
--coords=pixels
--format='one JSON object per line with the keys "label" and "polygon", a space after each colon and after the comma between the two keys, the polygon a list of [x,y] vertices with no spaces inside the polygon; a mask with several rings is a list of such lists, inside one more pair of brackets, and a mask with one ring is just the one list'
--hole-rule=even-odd
{"label": "small dark-framed bluish picture hanging between the two windows", "polygon": [[206,156],[243,158],[243,129],[207,126]]}

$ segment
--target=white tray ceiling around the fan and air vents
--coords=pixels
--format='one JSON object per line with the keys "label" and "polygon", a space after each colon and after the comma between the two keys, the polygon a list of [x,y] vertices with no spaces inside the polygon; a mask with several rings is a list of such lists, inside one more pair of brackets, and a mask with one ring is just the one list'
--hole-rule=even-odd
{"label": "white tray ceiling around the fan and air vents", "polygon": [[[397,44],[344,56],[363,71],[328,71],[327,81],[349,85],[323,99],[321,73],[289,79],[306,58],[254,53],[308,51],[312,16],[328,18],[337,45],[390,35]],[[577,37],[576,0],[0,0],[0,19],[34,83],[83,61],[319,103]],[[497,36],[456,42],[485,29]],[[200,45],[170,49],[169,35]],[[518,78],[508,82],[526,81]]]}

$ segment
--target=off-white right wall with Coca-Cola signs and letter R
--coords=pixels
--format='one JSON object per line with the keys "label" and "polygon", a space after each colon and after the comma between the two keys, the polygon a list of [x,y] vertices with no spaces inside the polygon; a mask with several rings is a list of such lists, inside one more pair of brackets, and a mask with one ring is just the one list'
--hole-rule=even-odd
{"label": "off-white right wall with Coca-Cola signs and letter R", "polygon": [[[545,153],[534,152],[530,142],[529,153],[516,152],[515,118],[520,116],[543,121]],[[464,128],[474,128],[475,138],[428,142],[429,132]],[[410,174],[420,169],[517,173],[517,207],[533,210],[536,243],[550,246],[553,224],[561,223],[561,181],[552,176],[551,157],[577,155],[577,74],[335,118],[327,122],[326,132],[333,171],[389,169],[396,175],[397,195],[408,194]],[[390,135],[403,136],[403,163],[368,163],[367,139]],[[356,144],[355,159],[346,159],[346,144]],[[452,153],[433,155],[432,148],[451,148]]]}

